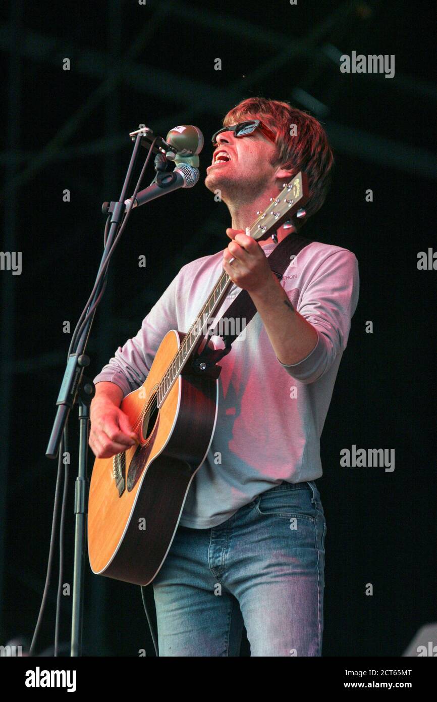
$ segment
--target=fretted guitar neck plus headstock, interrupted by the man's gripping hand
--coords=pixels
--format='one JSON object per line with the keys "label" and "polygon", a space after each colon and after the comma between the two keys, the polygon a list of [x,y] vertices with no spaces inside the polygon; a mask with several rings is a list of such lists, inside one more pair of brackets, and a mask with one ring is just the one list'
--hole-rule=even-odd
{"label": "fretted guitar neck plus headstock, interrupted by the man's gripping hand", "polygon": [[[248,227],[248,235],[255,240],[266,238],[286,220],[293,217],[307,200],[307,197],[307,178],[304,173],[298,173],[297,176],[290,180],[290,183],[285,183],[283,190],[276,199],[270,199],[269,206],[264,212],[260,212],[255,222]],[[184,369],[199,341],[205,336],[208,321],[222,302],[224,293],[226,293],[230,285],[231,279],[227,272],[223,271],[208,300],[206,300],[189,331],[184,336],[184,340],[164,373],[161,383],[159,383],[156,393],[158,406],[161,406],[166,399],[177,376]]]}

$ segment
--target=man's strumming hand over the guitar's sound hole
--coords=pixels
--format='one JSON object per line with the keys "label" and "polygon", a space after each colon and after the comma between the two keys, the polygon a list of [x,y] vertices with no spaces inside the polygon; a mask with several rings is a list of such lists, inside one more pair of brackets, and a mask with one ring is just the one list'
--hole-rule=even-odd
{"label": "man's strumming hand over the guitar's sound hole", "polygon": [[127,414],[110,400],[93,400],[90,419],[88,444],[96,458],[112,458],[140,441],[130,426]]}

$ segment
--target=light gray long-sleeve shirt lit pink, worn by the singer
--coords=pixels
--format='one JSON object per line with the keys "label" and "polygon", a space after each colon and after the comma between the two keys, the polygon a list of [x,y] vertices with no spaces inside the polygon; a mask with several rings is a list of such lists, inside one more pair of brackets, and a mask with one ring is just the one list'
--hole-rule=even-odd
{"label": "light gray long-sleeve shirt lit pink, worn by the singer", "polygon": [[[266,256],[276,246],[264,246]],[[125,397],[139,388],[166,333],[186,332],[194,323],[222,273],[222,256],[218,251],[182,266],[137,335],[116,350],[94,382],[115,383]],[[291,261],[281,285],[316,329],[316,347],[285,366],[257,313],[234,341],[220,361],[217,423],[188,492],[180,521],[185,527],[215,527],[283,480],[322,475],[320,437],[358,302],[358,262],[347,249],[313,241]],[[232,285],[215,322],[240,291]],[[211,340],[224,346],[218,336]]]}

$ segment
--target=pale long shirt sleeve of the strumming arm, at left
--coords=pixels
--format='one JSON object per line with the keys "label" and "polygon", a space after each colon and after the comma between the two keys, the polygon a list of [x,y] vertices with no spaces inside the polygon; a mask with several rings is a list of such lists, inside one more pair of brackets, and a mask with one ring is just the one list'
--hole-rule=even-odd
{"label": "pale long shirt sleeve of the strumming arm, at left", "polygon": [[114,357],[95,376],[94,383],[106,380],[119,385],[123,397],[144,383],[163,337],[170,329],[177,329],[176,300],[181,271],[144,317],[137,335],[119,346]]}

